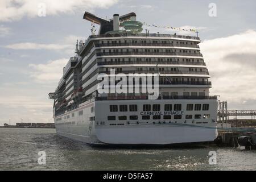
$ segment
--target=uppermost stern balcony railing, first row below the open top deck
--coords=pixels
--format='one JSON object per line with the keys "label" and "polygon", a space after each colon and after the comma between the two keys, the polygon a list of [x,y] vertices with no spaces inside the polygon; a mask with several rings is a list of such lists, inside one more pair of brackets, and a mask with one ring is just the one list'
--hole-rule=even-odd
{"label": "uppermost stern balcony railing, first row below the open top deck", "polygon": [[109,44],[95,44],[95,47],[110,47],[110,46],[163,46],[163,47],[191,47],[199,48],[198,45],[189,44],[170,44],[170,43],[109,43]]}

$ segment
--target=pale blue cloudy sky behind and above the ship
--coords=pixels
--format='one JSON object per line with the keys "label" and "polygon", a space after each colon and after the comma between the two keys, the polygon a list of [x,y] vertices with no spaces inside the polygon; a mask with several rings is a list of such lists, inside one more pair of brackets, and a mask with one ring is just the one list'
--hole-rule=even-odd
{"label": "pale blue cloudy sky behind and above the ship", "polygon": [[108,19],[134,12],[148,24],[196,28],[211,76],[210,95],[228,101],[230,110],[256,110],[255,7],[254,0],[1,0],[0,126],[9,119],[12,125],[53,122],[48,93],[75,55],[76,40],[90,35],[85,11]]}

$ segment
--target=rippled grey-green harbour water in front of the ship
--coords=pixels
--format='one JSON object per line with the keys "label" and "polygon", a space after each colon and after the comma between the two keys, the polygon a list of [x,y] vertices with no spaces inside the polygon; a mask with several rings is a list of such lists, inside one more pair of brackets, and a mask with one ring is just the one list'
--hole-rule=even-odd
{"label": "rippled grey-green harbour water in front of the ship", "polygon": [[[39,151],[46,164],[39,164]],[[209,164],[209,152],[216,164]],[[95,148],[55,129],[0,128],[0,170],[256,170],[256,151],[232,147]]]}

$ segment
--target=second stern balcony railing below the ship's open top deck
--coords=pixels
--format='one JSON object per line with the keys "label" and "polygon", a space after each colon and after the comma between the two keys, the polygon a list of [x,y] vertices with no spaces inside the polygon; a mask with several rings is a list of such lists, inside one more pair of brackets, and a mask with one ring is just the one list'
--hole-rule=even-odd
{"label": "second stern balcony railing below the ship's open top deck", "polygon": [[199,56],[201,53],[183,53],[183,52],[98,52],[97,56],[116,56],[116,55],[174,55],[174,56]]}

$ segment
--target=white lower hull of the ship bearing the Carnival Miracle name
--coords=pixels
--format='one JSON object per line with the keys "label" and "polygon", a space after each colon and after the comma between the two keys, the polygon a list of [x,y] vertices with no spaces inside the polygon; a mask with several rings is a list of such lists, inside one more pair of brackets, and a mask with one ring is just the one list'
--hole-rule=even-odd
{"label": "white lower hull of the ship bearing the Carnival Miracle name", "polygon": [[[145,103],[162,105],[181,103],[185,108],[187,103],[208,103],[208,111],[186,111],[184,109],[181,119],[166,120],[161,117],[158,120],[142,120],[141,110]],[[109,105],[112,104],[138,104],[137,112],[118,112],[116,115],[139,115],[137,121],[108,121],[107,116],[113,115],[109,112]],[[92,112],[92,107],[95,111]],[[83,114],[79,116],[79,111]],[[71,117],[75,113],[74,117]],[[186,114],[210,114],[210,118],[185,119]],[[165,145],[177,143],[194,143],[213,141],[217,137],[217,101],[216,100],[123,100],[123,101],[92,101],[87,102],[76,110],[61,115],[66,118],[56,121],[57,134],[71,139],[79,140],[88,144],[148,144]],[[67,115],[70,115],[67,118]],[[95,121],[90,121],[95,117]],[[93,120],[93,119],[92,119]],[[65,124],[66,123],[66,124]],[[115,124],[115,125],[114,125]]]}

